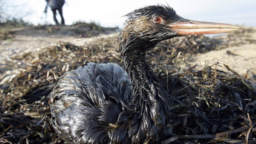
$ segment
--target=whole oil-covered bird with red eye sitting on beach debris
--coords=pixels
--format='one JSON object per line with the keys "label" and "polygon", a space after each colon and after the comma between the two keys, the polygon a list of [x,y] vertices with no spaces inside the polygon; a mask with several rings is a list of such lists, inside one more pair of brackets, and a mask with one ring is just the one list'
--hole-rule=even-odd
{"label": "whole oil-covered bird with red eye sitting on beach debris", "polygon": [[125,70],[113,63],[91,62],[64,73],[50,94],[53,128],[67,143],[160,143],[169,98],[148,64],[147,52],[172,37],[241,29],[187,20],[165,5],[147,6],[126,16],[119,34]]}

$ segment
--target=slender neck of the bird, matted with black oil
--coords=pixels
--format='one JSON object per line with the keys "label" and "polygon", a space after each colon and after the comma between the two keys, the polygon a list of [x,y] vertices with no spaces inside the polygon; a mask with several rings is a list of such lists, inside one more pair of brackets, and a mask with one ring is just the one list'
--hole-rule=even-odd
{"label": "slender neck of the bird, matted with black oil", "polygon": [[120,45],[125,69],[133,87],[132,103],[135,105],[135,112],[141,113],[143,118],[149,117],[155,123],[161,121],[159,127],[163,127],[168,116],[169,101],[163,85],[147,62],[145,52],[146,49],[155,47],[155,44],[136,41]]}

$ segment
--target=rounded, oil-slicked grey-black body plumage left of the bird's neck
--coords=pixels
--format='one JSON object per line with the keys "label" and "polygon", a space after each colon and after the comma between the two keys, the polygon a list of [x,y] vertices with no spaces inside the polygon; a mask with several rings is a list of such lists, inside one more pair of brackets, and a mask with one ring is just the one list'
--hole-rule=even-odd
{"label": "rounded, oil-slicked grey-black body plumage left of the bird's neck", "polygon": [[127,109],[122,103],[130,103],[133,95],[127,73],[116,64],[88,63],[67,72],[51,96],[54,128],[70,143],[108,143],[119,117],[131,116],[120,115]]}

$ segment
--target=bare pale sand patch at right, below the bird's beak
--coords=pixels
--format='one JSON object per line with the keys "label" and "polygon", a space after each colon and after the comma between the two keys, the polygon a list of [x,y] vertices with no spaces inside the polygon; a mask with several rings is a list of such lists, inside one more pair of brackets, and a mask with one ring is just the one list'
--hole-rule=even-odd
{"label": "bare pale sand patch at right, below the bird's beak", "polygon": [[[251,39],[256,41],[256,33],[251,33]],[[230,65],[241,75],[245,76],[248,73],[249,77],[251,77],[252,74],[256,74],[256,44],[244,44],[227,47],[220,51],[198,53],[193,57],[193,61],[185,61],[185,63],[188,65],[198,64],[197,68],[203,69],[205,65],[214,65],[217,61]],[[218,66],[217,68],[227,71],[224,67]]]}

